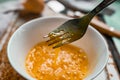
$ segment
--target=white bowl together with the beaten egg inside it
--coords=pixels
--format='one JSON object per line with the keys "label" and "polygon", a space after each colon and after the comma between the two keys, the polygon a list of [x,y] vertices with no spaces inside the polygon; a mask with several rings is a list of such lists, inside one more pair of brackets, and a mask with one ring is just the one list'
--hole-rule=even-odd
{"label": "white bowl together with the beaten egg inside it", "polygon": [[89,26],[81,39],[56,49],[43,38],[69,19],[43,17],[20,26],[7,47],[13,68],[28,80],[91,80],[99,75],[109,51],[93,27]]}

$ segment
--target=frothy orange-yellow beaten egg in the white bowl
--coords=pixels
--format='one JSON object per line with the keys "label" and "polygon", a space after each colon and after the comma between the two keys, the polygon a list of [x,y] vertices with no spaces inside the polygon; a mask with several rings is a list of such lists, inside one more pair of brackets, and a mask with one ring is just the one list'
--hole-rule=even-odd
{"label": "frothy orange-yellow beaten egg in the white bowl", "polygon": [[88,58],[73,45],[53,49],[47,42],[40,42],[29,51],[25,66],[37,80],[83,80],[88,72]]}

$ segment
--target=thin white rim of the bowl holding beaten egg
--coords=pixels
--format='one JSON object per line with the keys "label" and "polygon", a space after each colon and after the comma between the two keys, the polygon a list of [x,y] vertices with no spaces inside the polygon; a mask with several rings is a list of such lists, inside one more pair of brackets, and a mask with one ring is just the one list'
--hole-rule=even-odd
{"label": "thin white rim of the bowl holding beaten egg", "polygon": [[[36,19],[30,20],[30,21],[24,23],[23,25],[21,25],[21,26],[12,34],[10,40],[8,41],[8,46],[7,46],[7,57],[8,57],[8,60],[9,60],[9,62],[10,62],[10,64],[11,64],[11,66],[14,68],[14,70],[15,70],[17,73],[19,73],[21,76],[23,76],[24,78],[26,78],[26,79],[29,79],[29,78],[26,77],[23,73],[19,72],[19,70],[13,65],[13,61],[11,61],[11,58],[10,58],[9,47],[10,47],[11,41],[13,40],[13,37],[16,35],[16,33],[17,33],[19,30],[21,30],[23,27],[25,27],[25,26],[27,26],[27,25],[29,25],[29,24],[31,24],[31,23],[34,23],[34,22],[36,22],[36,21],[45,20],[45,19],[63,19],[63,20],[69,20],[69,19],[72,19],[72,18],[63,17],[63,16],[47,16],[47,17],[40,17],[40,18],[36,18]],[[97,31],[94,27],[92,27],[91,25],[89,25],[88,28],[92,29],[93,31],[95,31],[95,32],[97,33],[97,35],[100,36],[100,38],[103,40],[103,43],[104,43],[104,45],[105,45],[105,47],[106,47],[106,49],[107,49],[107,50],[106,50],[107,53],[105,53],[105,54],[106,54],[106,59],[105,59],[103,65],[102,65],[102,67],[96,72],[96,74],[94,74],[94,75],[91,76],[91,77],[88,77],[88,78],[90,78],[90,80],[91,80],[91,79],[96,78],[96,77],[104,70],[104,68],[105,68],[105,66],[106,66],[106,64],[107,64],[107,62],[108,62],[108,59],[109,59],[109,54],[108,54],[108,53],[109,53],[109,50],[108,50],[108,44],[107,44],[107,42],[105,41],[105,39],[103,38],[102,34],[101,34],[100,32],[98,32],[98,31]],[[88,80],[88,79],[85,78],[85,80]]]}

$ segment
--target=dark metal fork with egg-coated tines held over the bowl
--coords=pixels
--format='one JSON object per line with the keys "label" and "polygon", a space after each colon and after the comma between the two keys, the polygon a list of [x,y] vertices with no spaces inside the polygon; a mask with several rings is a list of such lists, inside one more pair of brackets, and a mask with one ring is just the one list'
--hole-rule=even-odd
{"label": "dark metal fork with egg-coated tines held over the bowl", "polygon": [[48,46],[53,45],[53,48],[57,48],[82,38],[93,17],[115,1],[116,0],[104,0],[87,15],[68,20],[57,29],[48,33],[48,35],[44,36],[49,38],[49,40],[47,40]]}

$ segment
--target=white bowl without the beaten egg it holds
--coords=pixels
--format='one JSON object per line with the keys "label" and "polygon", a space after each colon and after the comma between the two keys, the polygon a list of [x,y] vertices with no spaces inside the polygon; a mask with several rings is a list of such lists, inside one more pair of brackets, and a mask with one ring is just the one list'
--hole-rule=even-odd
{"label": "white bowl without the beaten egg it holds", "polygon": [[[25,70],[25,59],[28,51],[38,42],[43,41],[43,36],[67,21],[63,17],[43,17],[25,23],[12,35],[8,43],[8,58],[13,68],[23,77],[35,80]],[[72,44],[85,50],[89,58],[89,74],[85,80],[95,78],[105,67],[108,60],[108,46],[102,35],[89,26],[83,38]]]}

